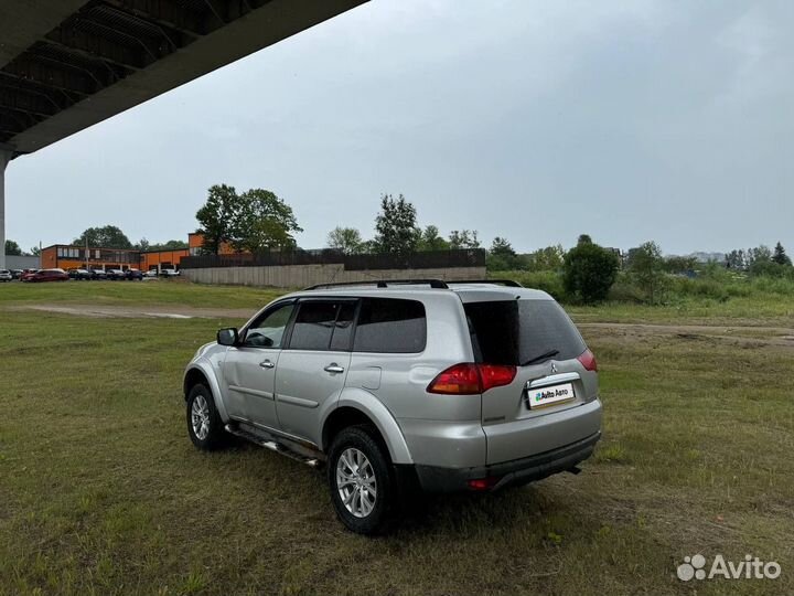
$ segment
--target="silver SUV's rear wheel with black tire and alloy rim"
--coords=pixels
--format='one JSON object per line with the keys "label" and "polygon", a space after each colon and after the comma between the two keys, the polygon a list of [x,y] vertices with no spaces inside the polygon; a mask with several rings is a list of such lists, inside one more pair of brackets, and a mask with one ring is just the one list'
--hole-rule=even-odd
{"label": "silver SUV's rear wheel with black tire and alloy rim", "polygon": [[[391,462],[374,433],[367,426],[344,428],[331,444],[328,464],[329,490],[336,515],[348,530],[365,535],[386,530],[394,501]],[[347,483],[341,485],[345,479]]]}

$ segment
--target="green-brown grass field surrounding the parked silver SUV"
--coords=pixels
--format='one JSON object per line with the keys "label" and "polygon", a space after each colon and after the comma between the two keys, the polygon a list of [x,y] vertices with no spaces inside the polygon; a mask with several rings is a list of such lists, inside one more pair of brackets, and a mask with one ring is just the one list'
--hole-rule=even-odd
{"label": "green-brown grass field surrounding the parked silver SUV", "polygon": [[[605,407],[583,472],[432,500],[379,539],[342,529],[316,471],[191,445],[182,369],[239,317],[26,310],[253,310],[273,296],[0,286],[0,594],[794,593],[794,297],[571,309]],[[683,583],[695,553],[750,553],[782,575]]]}

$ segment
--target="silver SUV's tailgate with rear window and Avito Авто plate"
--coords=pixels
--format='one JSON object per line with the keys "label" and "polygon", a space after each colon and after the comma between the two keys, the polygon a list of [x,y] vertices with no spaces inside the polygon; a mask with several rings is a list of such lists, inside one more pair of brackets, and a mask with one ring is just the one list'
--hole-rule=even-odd
{"label": "silver SUV's tailgate with rear window and Avito \u0410\u0432\u0442\u043e plate", "polygon": [[[482,424],[489,436],[490,462],[492,456],[497,460],[503,451],[497,437],[515,441],[517,437],[512,430],[529,428],[533,418],[577,407],[596,397],[597,374],[577,360],[587,345],[556,301],[511,299],[468,302],[463,308],[475,360],[515,365],[517,371],[509,385],[483,394]],[[533,437],[522,440],[527,441],[524,450],[528,455],[534,449]],[[565,443],[565,437],[560,440]]]}

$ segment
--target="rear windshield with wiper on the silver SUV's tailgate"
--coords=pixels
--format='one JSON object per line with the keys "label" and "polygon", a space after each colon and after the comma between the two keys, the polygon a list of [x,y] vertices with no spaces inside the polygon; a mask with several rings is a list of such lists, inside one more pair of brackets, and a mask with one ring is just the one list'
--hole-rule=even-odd
{"label": "rear windshield with wiper on the silver SUV's tailgate", "polygon": [[469,302],[463,308],[478,362],[522,365],[554,351],[558,353],[549,358],[569,360],[587,349],[554,300]]}

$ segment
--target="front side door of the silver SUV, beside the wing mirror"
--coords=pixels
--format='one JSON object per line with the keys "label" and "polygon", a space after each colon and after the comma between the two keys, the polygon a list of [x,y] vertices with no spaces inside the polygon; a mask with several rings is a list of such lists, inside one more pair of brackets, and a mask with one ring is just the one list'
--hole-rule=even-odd
{"label": "front side door of the silver SUV, beside the wing mirror", "polygon": [[276,417],[276,365],[294,304],[276,305],[262,312],[245,331],[224,362],[229,415],[259,426],[278,428]]}

